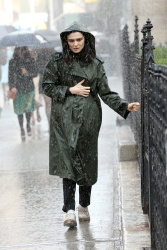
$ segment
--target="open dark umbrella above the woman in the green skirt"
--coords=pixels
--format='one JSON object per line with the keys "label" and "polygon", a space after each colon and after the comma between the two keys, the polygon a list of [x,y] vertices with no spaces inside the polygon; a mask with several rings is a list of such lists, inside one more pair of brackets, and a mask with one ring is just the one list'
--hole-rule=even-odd
{"label": "open dark umbrella above the woman in the green skirt", "polygon": [[23,47],[40,48],[47,41],[40,35],[30,31],[15,31],[7,34],[0,40],[0,47]]}

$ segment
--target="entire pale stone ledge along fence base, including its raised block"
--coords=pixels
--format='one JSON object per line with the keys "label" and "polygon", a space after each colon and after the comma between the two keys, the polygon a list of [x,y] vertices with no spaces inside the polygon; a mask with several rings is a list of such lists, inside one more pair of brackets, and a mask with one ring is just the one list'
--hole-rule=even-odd
{"label": "entire pale stone ledge along fence base, including its raised block", "polygon": [[141,250],[151,246],[149,220],[141,205],[136,142],[130,126],[120,118],[117,119],[117,140],[124,250]]}

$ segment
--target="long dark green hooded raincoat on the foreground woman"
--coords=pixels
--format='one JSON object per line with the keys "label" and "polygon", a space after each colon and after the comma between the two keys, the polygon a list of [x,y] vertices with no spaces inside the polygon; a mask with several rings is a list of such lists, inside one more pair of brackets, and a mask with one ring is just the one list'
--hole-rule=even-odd
{"label": "long dark green hooded raincoat on the foreground woman", "polygon": [[[95,38],[78,23],[65,32],[87,34],[95,53]],[[67,90],[85,79],[90,86],[88,97],[67,96]],[[55,53],[43,77],[43,91],[52,98],[50,120],[49,173],[69,178],[79,185],[91,186],[98,175],[98,135],[102,120],[101,99],[119,115],[128,116],[128,103],[108,86],[103,61],[97,56],[91,63],[74,61],[69,67],[63,53]]]}

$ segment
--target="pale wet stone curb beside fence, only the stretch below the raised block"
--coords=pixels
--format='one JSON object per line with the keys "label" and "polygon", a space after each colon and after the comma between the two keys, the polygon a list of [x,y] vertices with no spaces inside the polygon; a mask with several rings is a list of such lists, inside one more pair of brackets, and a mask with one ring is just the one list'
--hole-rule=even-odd
{"label": "pale wet stone curb beside fence, only the stretch below the raised block", "polygon": [[150,247],[148,215],[141,205],[141,180],[137,162],[120,162],[122,227],[124,250]]}

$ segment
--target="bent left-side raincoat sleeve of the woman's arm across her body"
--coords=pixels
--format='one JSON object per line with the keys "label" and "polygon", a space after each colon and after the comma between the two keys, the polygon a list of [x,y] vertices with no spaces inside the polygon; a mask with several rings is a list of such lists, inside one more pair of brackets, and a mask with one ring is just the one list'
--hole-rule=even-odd
{"label": "bent left-side raincoat sleeve of the woman's arm across her body", "polygon": [[42,80],[42,88],[45,95],[53,98],[55,101],[64,102],[67,97],[68,86],[60,85],[60,73],[57,67],[57,61],[51,59],[45,68]]}

